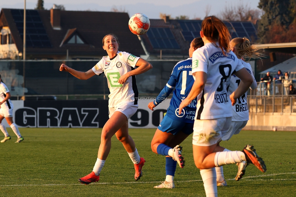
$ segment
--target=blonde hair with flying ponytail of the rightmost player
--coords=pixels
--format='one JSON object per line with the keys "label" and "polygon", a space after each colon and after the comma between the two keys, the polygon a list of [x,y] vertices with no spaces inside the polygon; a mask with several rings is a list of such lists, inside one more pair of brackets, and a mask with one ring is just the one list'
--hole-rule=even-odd
{"label": "blonde hair with flying ponytail of the rightmost player", "polygon": [[258,44],[251,45],[251,42],[248,38],[233,38],[230,41],[231,47],[236,48],[237,58],[260,58],[264,57],[265,54],[257,52],[260,48],[258,48]]}

